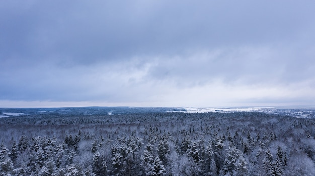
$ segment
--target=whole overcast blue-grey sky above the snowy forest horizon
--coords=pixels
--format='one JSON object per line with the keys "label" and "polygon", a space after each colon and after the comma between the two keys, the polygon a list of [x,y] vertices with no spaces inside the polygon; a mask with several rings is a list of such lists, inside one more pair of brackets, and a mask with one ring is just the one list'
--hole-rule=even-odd
{"label": "whole overcast blue-grey sky above the snowy forest horizon", "polygon": [[315,107],[314,7],[0,0],[0,107]]}

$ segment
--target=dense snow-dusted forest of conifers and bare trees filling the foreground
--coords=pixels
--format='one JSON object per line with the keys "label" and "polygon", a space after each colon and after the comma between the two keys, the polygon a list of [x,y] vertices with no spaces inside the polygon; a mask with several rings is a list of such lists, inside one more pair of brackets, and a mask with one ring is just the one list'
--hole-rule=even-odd
{"label": "dense snow-dusted forest of conifers and bare trees filling the foreground", "polygon": [[0,175],[315,175],[315,119],[261,112],[0,118]]}

